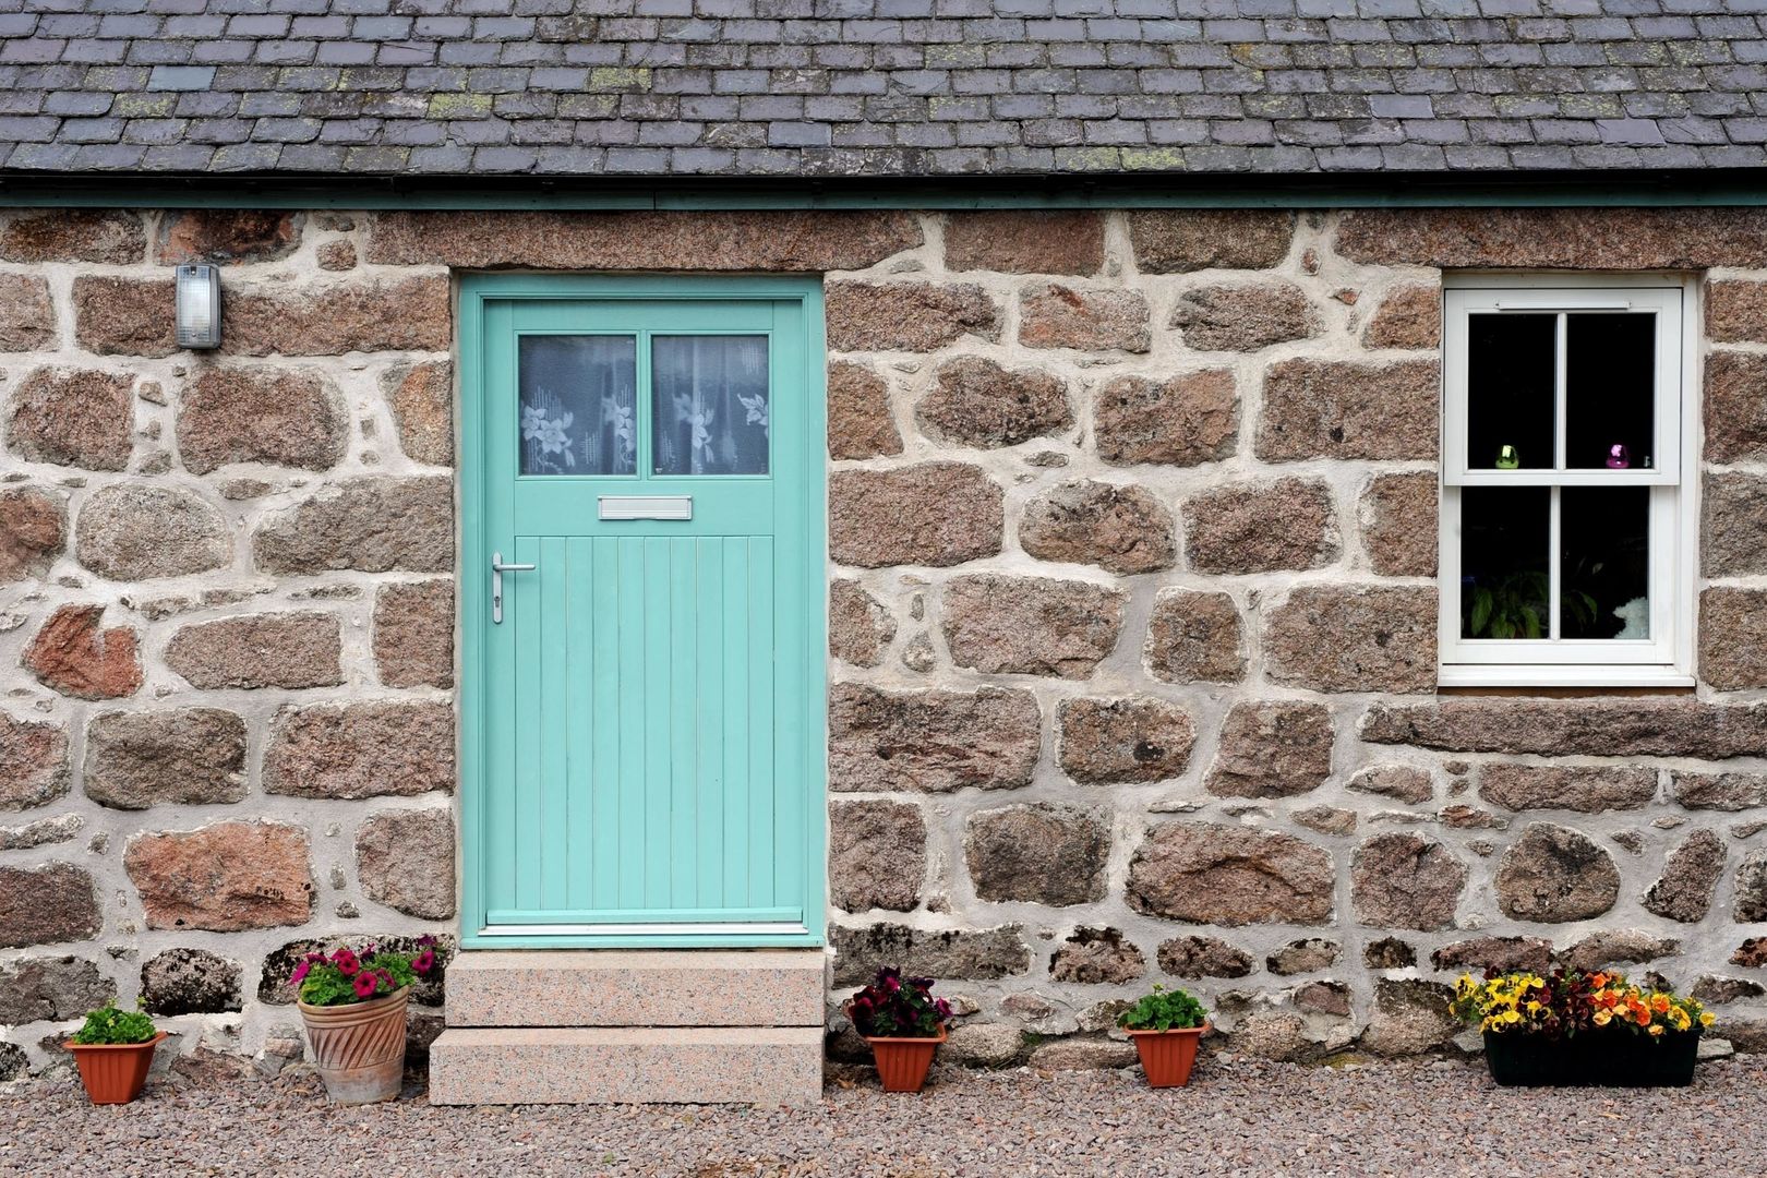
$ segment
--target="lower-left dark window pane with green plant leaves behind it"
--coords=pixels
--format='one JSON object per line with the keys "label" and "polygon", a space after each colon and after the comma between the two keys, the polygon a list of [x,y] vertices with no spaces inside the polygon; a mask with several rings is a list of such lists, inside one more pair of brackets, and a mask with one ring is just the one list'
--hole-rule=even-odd
{"label": "lower-left dark window pane with green plant leaves behind it", "polygon": [[1460,495],[1460,636],[1548,638],[1551,487]]}

